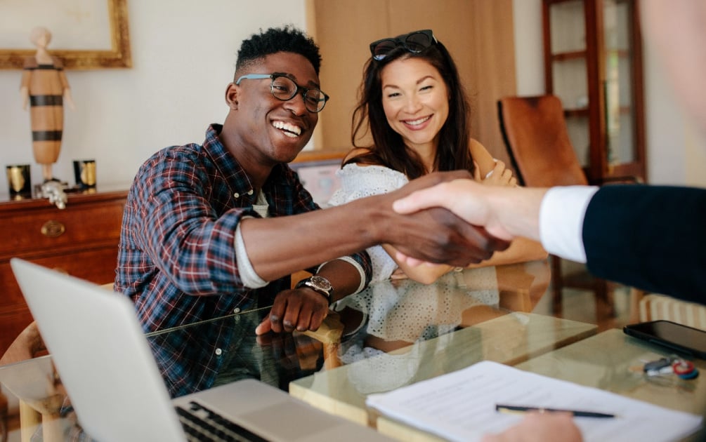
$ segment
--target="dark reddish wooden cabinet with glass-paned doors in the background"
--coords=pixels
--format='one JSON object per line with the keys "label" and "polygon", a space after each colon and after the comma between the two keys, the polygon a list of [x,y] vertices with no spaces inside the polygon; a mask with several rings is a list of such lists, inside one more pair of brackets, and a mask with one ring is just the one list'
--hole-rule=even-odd
{"label": "dark reddish wooden cabinet with glass-paned doors in the background", "polygon": [[546,91],[587,177],[645,180],[638,0],[543,0]]}

